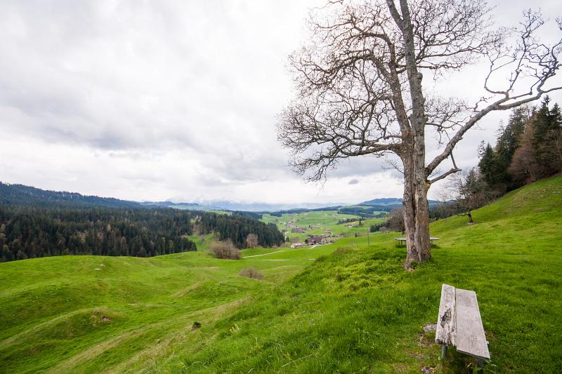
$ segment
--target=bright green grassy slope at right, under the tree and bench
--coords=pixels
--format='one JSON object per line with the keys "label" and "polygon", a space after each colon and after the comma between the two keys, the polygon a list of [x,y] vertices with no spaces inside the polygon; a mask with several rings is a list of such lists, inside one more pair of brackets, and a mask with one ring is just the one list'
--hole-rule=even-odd
{"label": "bright green grassy slope at right, under the tree and bench", "polygon": [[[393,234],[320,258],[212,326],[216,338],[164,361],[167,370],[247,373],[469,370],[452,352],[438,361],[433,333],[441,283],[476,290],[492,361],[486,370],[562,372],[562,178],[537,182],[473,213],[431,225],[433,261],[401,265]],[[360,238],[364,242],[365,238]],[[356,242],[355,242],[356,243]],[[372,242],[373,243],[373,242]]]}

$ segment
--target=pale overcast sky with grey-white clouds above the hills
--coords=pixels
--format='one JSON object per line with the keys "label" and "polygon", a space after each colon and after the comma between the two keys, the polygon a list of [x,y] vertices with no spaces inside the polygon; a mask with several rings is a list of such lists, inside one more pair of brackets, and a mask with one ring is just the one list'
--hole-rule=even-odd
{"label": "pale overcast sky with grey-white clouds above the hills", "polygon": [[[380,159],[344,163],[323,187],[286,166],[275,115],[292,97],[287,55],[306,38],[308,8],[323,3],[0,1],[0,180],[138,201],[401,196]],[[529,3],[490,4],[513,24]],[[552,18],[560,4],[532,2]],[[481,72],[444,89],[478,97]],[[462,140],[459,166],[477,163],[478,143],[508,115]]]}

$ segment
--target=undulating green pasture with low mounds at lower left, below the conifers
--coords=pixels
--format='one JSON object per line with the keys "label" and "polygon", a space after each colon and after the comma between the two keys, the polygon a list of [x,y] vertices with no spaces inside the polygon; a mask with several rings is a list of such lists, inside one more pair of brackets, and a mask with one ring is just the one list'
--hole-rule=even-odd
{"label": "undulating green pasture with low mounds at lower left, below the conifers", "polygon": [[[0,372],[98,372],[189,335],[309,260],[65,256],[0,264]],[[238,276],[259,267],[264,281]],[[103,317],[110,321],[103,321]]]}

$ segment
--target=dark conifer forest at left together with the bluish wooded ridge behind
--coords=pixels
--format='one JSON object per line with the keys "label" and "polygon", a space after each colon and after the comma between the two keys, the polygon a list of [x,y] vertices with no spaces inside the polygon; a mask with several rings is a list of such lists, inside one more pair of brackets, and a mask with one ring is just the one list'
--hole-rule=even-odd
{"label": "dark conifer forest at left together with the bluish wooded ridge behind", "polygon": [[150,257],[197,251],[193,228],[216,232],[246,248],[248,234],[259,245],[280,245],[275,225],[253,214],[217,214],[174,208],[143,208],[118,199],[44,191],[0,183],[0,262],[55,255]]}

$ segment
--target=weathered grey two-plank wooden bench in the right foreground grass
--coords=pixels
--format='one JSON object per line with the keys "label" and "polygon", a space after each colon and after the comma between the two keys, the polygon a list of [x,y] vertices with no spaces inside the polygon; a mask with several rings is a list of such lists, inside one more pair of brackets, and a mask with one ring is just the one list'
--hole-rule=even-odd
{"label": "weathered grey two-plank wooden bench in the right foreground grass", "polygon": [[483,367],[483,359],[490,359],[474,291],[443,284],[435,341],[443,345],[442,360],[449,345],[457,347],[457,352],[476,357],[480,367]]}

